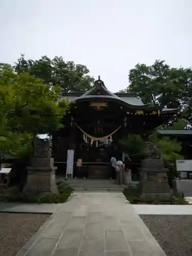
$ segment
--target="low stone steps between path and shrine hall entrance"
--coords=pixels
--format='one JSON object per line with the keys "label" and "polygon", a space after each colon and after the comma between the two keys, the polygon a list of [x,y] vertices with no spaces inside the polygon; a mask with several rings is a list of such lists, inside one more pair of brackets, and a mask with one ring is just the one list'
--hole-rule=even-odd
{"label": "low stone steps between path and shrine hall entrance", "polygon": [[75,191],[123,191],[126,185],[118,185],[115,180],[100,179],[73,179],[65,177],[56,177],[57,182],[66,183],[74,188]]}

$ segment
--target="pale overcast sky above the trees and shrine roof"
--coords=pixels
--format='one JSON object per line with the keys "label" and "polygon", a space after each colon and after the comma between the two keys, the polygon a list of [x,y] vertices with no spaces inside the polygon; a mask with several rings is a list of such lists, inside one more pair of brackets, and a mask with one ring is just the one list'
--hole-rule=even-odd
{"label": "pale overcast sky above the trees and shrine roof", "polygon": [[191,16],[192,0],[0,0],[0,62],[63,56],[117,92],[138,62],[192,66]]}

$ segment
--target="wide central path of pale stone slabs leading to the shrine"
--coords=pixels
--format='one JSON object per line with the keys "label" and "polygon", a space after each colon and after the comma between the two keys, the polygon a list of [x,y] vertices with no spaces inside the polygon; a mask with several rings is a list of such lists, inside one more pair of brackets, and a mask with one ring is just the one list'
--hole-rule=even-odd
{"label": "wide central path of pale stone slabs leading to the shrine", "polygon": [[121,193],[75,193],[17,256],[166,256]]}

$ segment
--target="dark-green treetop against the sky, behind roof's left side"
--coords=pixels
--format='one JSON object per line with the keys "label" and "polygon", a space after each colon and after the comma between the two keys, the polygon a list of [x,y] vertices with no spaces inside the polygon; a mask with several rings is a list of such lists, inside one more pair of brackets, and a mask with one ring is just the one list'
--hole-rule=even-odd
{"label": "dark-green treetop against the sky, behind roof's left side", "polygon": [[94,78],[84,65],[64,61],[62,57],[53,59],[42,56],[38,60],[26,59],[22,55],[15,63],[17,73],[29,72],[43,80],[44,84],[60,86],[64,92],[84,92],[92,88]]}

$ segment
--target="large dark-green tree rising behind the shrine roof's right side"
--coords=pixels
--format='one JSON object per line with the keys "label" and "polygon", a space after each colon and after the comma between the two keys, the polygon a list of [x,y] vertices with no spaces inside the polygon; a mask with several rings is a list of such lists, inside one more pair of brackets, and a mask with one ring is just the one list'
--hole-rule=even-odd
{"label": "large dark-green tree rising behind the shrine roof's right side", "polygon": [[192,70],[170,68],[162,60],[152,66],[138,63],[130,70],[129,82],[126,91],[140,92],[144,103],[183,108],[190,100]]}

